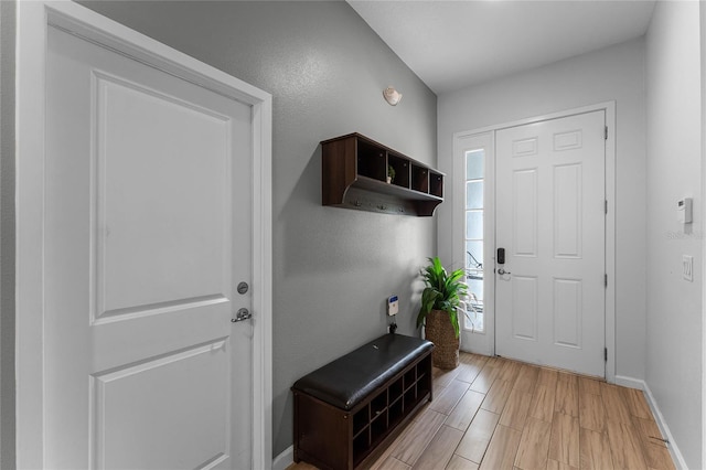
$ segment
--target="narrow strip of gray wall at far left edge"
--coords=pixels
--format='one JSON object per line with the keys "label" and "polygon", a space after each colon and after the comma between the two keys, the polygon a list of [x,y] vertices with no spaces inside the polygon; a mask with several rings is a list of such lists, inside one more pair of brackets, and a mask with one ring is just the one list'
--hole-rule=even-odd
{"label": "narrow strip of gray wall at far left edge", "polygon": [[14,1],[0,1],[0,468],[14,468]]}

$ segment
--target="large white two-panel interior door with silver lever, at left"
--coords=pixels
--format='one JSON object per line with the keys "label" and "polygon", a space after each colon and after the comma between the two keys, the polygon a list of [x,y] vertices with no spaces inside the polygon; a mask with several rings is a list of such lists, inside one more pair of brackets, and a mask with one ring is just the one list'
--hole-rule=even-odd
{"label": "large white two-panel interior door with silver lever, at left", "polygon": [[55,28],[46,468],[252,463],[252,107]]}

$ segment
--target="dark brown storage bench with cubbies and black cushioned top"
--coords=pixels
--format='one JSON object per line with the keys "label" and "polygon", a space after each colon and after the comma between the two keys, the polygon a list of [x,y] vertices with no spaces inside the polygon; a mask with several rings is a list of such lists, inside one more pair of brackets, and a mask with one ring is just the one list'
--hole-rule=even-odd
{"label": "dark brown storage bench with cubbies and black cushioned top", "polygon": [[372,462],[431,400],[432,349],[386,334],[297,381],[295,461],[331,470]]}

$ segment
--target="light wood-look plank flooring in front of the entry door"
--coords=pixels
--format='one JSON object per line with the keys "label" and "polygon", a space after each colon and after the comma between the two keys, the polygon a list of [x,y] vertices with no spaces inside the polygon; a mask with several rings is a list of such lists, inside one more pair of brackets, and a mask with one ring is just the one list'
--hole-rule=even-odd
{"label": "light wood-look plank flooring in front of the entry door", "polygon": [[461,353],[373,469],[674,469],[661,439],[640,391]]}

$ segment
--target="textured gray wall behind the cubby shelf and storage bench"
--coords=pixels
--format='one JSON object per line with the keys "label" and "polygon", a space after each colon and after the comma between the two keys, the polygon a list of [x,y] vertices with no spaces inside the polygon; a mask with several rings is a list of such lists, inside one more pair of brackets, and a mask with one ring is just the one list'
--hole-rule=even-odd
{"label": "textured gray wall behind the cubby shelf and storage bench", "polygon": [[[86,3],[274,96],[274,452],[291,445],[289,387],[386,331],[413,328],[434,218],[321,206],[319,141],[359,131],[436,164],[436,96],[345,2]],[[382,98],[394,85],[396,107]]]}

